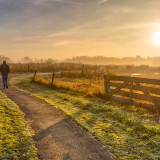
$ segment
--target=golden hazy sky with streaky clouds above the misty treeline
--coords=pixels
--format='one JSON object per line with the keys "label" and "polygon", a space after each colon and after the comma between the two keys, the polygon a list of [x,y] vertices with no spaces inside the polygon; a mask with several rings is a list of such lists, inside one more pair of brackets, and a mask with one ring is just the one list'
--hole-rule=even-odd
{"label": "golden hazy sky with streaky clouds above the misty treeline", "polygon": [[159,0],[0,0],[0,55],[160,56],[159,8]]}

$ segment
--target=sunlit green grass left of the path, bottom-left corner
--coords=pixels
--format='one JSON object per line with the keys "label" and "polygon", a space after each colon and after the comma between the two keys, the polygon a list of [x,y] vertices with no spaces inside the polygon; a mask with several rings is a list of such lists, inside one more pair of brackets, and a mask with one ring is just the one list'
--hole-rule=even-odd
{"label": "sunlit green grass left of the path, bottom-left corner", "polygon": [[0,92],[0,159],[37,160],[33,134],[19,107]]}

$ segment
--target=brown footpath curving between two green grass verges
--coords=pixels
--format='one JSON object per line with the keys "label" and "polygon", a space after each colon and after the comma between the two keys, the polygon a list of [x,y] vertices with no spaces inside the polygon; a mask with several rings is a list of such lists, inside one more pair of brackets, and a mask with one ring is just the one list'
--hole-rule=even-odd
{"label": "brown footpath curving between two green grass verges", "polygon": [[40,160],[113,160],[101,143],[58,109],[13,87],[3,92],[32,121]]}

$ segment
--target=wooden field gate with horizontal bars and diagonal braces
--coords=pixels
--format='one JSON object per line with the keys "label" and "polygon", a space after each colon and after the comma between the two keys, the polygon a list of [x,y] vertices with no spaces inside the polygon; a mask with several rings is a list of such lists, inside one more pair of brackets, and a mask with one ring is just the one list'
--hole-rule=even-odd
{"label": "wooden field gate with horizontal bars and diagonal braces", "polygon": [[124,103],[160,109],[160,80],[104,76],[105,96]]}

